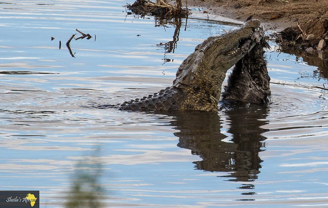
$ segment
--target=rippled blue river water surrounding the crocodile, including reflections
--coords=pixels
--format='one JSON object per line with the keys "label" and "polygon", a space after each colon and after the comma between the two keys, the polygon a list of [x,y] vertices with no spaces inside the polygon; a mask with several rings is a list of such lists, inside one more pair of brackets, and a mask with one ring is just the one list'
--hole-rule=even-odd
{"label": "rippled blue river water surrounding the crocodile, including reflections", "polygon": [[[197,44],[238,27],[161,25],[124,4],[0,3],[1,190],[40,190],[41,207],[84,202],[75,186],[105,207],[328,206],[325,68],[270,43],[266,107],[97,109],[171,85]],[[92,38],[72,40],[73,58],[75,29]]]}

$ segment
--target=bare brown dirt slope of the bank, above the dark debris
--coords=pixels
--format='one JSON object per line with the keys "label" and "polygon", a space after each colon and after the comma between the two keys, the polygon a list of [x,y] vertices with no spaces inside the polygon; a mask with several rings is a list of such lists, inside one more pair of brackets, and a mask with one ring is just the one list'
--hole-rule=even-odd
{"label": "bare brown dirt slope of the bank, above the dark debris", "polygon": [[328,0],[188,0],[187,3],[242,21],[252,15],[269,29],[277,30],[297,26],[297,22],[328,19]]}

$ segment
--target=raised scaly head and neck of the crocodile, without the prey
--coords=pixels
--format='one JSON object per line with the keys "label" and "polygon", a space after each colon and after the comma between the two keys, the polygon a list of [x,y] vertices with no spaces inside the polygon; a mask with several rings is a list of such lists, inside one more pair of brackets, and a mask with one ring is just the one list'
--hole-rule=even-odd
{"label": "raised scaly head and neck of the crocodile, without the prey", "polygon": [[184,88],[203,81],[222,84],[227,70],[263,37],[264,32],[259,25],[259,20],[252,19],[238,30],[209,37],[196,46],[180,65],[173,86]]}

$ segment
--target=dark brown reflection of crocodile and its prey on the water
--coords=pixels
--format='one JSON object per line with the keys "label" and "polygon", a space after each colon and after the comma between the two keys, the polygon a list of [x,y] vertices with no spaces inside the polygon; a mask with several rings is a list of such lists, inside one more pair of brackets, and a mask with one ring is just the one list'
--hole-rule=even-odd
{"label": "dark brown reflection of crocodile and its prey on the water", "polygon": [[[179,138],[178,146],[190,149],[192,154],[199,155],[202,160],[195,161],[197,169],[205,171],[227,172],[231,181],[253,181],[260,173],[258,153],[262,151],[262,136],[266,130],[261,126],[267,116],[267,107],[260,105],[230,104],[220,112],[230,122],[228,134],[231,141],[221,133],[222,122],[217,112],[173,112],[171,122],[179,130],[174,135]],[[226,123],[227,121],[225,121]]]}

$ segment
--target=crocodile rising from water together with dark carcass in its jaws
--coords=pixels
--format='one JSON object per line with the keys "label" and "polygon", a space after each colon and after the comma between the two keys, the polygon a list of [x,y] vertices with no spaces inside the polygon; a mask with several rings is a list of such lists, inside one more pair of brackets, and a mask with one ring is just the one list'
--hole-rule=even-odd
{"label": "crocodile rising from water together with dark carcass in its jaws", "polygon": [[209,37],[197,45],[178,68],[172,86],[141,99],[98,107],[130,111],[218,111],[222,82],[234,65],[236,72],[231,74],[223,97],[266,103],[270,97],[270,77],[263,47],[267,46],[260,21],[249,20],[240,29]]}

